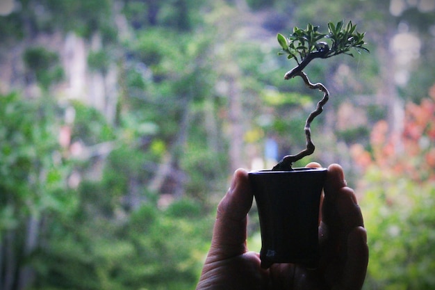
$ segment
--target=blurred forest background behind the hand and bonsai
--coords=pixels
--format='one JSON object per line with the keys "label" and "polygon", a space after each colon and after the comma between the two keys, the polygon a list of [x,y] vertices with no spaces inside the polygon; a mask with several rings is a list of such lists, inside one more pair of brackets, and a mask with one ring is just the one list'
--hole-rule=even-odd
{"label": "blurred forest background behind the hand and bonsai", "polygon": [[370,54],[306,68],[297,166],[343,166],[365,289],[435,289],[434,0],[0,0],[0,289],[195,288],[233,170],[302,150],[322,97],[277,33],[340,20]]}

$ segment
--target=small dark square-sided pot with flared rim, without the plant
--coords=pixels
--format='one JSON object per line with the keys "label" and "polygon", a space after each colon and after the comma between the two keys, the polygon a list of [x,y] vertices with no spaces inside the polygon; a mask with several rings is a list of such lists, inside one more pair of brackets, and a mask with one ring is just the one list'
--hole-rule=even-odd
{"label": "small dark square-sided pot with flared rim, without the plant", "polygon": [[249,172],[261,229],[261,267],[318,266],[318,219],[326,168]]}

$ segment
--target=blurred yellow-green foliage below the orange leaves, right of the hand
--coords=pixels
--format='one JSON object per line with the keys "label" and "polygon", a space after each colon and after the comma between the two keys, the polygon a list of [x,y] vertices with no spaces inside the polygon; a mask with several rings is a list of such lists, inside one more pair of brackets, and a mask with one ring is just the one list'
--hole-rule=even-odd
{"label": "blurred yellow-green foliage below the orange leaves, right of the hand", "polygon": [[435,184],[372,168],[361,201],[370,262],[365,289],[434,289]]}

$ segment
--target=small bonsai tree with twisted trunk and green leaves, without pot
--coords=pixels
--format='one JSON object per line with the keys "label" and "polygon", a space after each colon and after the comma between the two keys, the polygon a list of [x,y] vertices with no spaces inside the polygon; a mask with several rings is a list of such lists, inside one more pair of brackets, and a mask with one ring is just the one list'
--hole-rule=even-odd
{"label": "small bonsai tree with twisted trunk and green leaves, without pot", "polygon": [[308,76],[303,72],[306,65],[308,65],[315,58],[330,58],[338,54],[350,53],[350,49],[356,49],[360,54],[362,51],[368,51],[364,45],[363,38],[366,33],[359,33],[356,31],[356,25],[348,22],[346,25],[343,21],[338,22],[336,25],[329,22],[328,33],[320,33],[319,26],[308,24],[306,29],[299,29],[295,27],[293,33],[288,38],[278,33],[277,39],[281,45],[279,55],[287,54],[288,59],[294,59],[297,66],[292,70],[286,72],[284,79],[293,79],[295,76],[300,76],[306,86],[311,89],[318,89],[323,92],[322,99],[318,102],[315,111],[312,111],[305,122],[305,136],[306,148],[295,155],[287,155],[279,161],[279,163],[272,168],[272,170],[293,170],[292,164],[299,159],[313,154],[315,146],[311,140],[311,122],[323,111],[323,106],[328,102],[329,92],[322,83],[311,83]]}

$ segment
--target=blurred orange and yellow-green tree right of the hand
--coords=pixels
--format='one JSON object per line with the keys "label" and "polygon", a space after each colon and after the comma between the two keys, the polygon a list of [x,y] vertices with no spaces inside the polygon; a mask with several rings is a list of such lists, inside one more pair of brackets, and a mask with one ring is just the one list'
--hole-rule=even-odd
{"label": "blurred orange and yellow-green tree right of the hand", "polygon": [[435,287],[434,88],[421,104],[407,104],[400,135],[388,137],[388,124],[379,121],[370,152],[354,145],[354,159],[363,168],[357,191],[363,193],[361,208],[369,233],[366,289]]}

